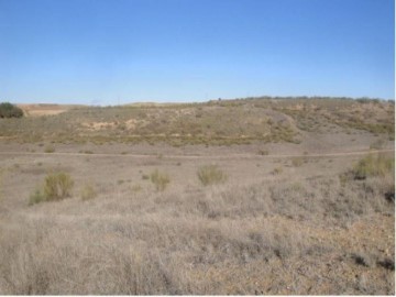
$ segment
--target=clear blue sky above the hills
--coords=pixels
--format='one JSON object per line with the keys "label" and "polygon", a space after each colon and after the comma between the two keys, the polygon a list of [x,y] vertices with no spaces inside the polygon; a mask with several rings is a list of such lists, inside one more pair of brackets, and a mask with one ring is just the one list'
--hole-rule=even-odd
{"label": "clear blue sky above the hills", "polygon": [[0,101],[394,99],[393,0],[0,0]]}

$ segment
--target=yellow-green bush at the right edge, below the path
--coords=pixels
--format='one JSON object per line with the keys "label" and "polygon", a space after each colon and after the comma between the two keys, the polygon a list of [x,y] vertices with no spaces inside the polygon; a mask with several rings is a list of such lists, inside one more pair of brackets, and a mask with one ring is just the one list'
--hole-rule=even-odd
{"label": "yellow-green bush at the right edge, below the path", "polygon": [[355,179],[365,179],[370,176],[385,176],[394,173],[394,170],[395,158],[370,154],[359,161],[353,167],[352,173]]}

